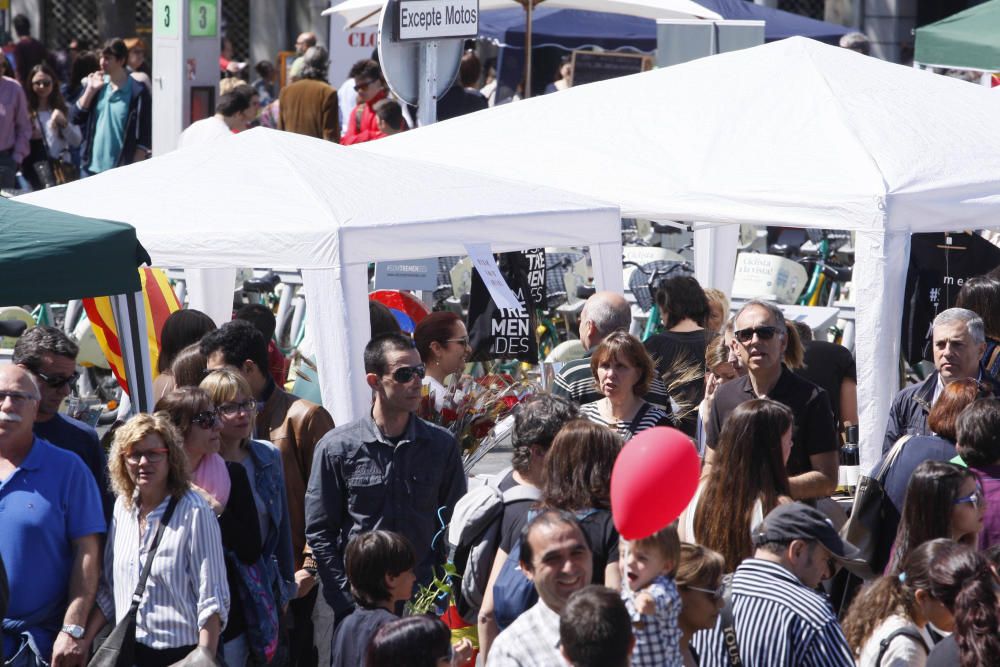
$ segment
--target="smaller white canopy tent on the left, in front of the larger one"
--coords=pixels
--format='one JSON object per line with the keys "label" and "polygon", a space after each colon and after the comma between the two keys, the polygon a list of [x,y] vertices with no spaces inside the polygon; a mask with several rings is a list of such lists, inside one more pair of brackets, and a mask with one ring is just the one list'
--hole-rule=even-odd
{"label": "smaller white canopy tent on the left, in front of the larger one", "polygon": [[369,262],[462,255],[466,243],[589,245],[598,285],[622,289],[614,206],[289,132],[251,130],[22,199],[133,225],[154,265],[188,270],[192,306],[217,322],[230,319],[237,268],[301,269],[337,423],[370,405]]}

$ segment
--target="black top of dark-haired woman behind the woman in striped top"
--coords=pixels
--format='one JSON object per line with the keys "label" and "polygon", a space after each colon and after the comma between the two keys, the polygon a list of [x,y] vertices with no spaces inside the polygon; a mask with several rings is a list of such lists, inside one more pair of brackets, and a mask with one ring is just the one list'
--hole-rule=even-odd
{"label": "black top of dark-haired woman behind the woman in striped top", "polygon": [[[680,405],[682,412],[688,411],[680,421],[681,430],[692,438],[696,436],[698,424],[698,405],[705,398],[705,348],[708,347],[708,332],[697,331],[674,332],[665,331],[651,336],[645,342],[646,350],[656,363],[656,374],[663,378],[670,397]],[[701,369],[701,376],[671,389],[673,376],[686,371],[689,367]],[[694,408],[691,410],[691,408]]]}

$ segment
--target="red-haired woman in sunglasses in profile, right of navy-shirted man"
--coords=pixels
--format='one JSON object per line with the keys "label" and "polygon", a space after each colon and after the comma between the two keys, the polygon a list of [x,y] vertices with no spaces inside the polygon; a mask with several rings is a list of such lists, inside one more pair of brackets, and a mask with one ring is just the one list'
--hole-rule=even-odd
{"label": "red-haired woman in sunglasses in profile, right of navy-shirted man", "polygon": [[462,318],[450,311],[431,313],[413,330],[413,343],[427,368],[423,382],[434,396],[434,409],[440,412],[457,404],[461,392],[449,393],[445,381],[449,375],[454,376],[453,383],[458,380],[472,354]]}

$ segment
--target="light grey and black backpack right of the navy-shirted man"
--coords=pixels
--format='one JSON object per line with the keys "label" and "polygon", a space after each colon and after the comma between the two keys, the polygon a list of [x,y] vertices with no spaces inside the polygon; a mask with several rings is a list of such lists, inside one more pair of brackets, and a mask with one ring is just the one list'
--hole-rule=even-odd
{"label": "light grey and black backpack right of the navy-shirted man", "polygon": [[455,608],[468,623],[475,623],[489,583],[493,560],[500,546],[504,509],[517,502],[538,500],[542,492],[517,485],[500,492],[500,481],[510,468],[486,478],[455,503],[448,526],[448,560],[455,566],[462,586],[455,594]]}

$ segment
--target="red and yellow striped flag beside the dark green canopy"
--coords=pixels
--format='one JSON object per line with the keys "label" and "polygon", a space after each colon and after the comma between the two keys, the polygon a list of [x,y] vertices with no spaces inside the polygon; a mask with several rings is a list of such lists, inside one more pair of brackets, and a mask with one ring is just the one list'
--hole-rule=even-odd
{"label": "red and yellow striped flag beside the dark green canopy", "polygon": [[[160,331],[170,313],[180,310],[181,304],[177,300],[174,290],[170,287],[167,274],[162,270],[143,267],[139,269],[139,277],[142,280],[142,296],[146,303],[149,363],[155,378],[158,375],[156,362],[160,358]],[[122,350],[118,341],[118,329],[115,326],[115,317],[111,310],[111,299],[106,296],[84,299],[83,307],[87,311],[87,318],[90,319],[90,326],[94,329],[97,342],[111,365],[111,371],[115,374],[118,384],[128,391],[125,381],[125,366],[122,363]]]}

